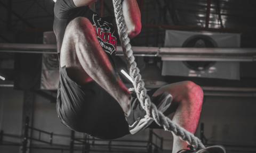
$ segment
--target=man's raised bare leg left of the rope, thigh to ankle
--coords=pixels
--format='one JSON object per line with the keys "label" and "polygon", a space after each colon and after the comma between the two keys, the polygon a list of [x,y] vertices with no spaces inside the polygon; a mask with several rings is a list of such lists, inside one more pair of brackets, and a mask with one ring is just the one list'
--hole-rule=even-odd
{"label": "man's raised bare leg left of the rope, thigh to ankle", "polygon": [[76,18],[67,25],[60,65],[66,66],[69,77],[80,85],[92,80],[97,82],[118,101],[124,113],[128,113],[130,92],[117,77],[87,18]]}

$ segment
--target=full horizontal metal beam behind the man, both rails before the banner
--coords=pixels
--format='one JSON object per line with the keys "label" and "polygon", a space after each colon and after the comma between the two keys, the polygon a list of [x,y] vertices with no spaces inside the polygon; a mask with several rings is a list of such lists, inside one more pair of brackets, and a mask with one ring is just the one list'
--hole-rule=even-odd
{"label": "full horizontal metal beam behind the man, both rails before the banner", "polygon": [[[167,61],[256,61],[255,48],[158,48],[133,47],[135,56],[162,57]],[[43,44],[0,44],[3,53],[57,54],[56,45]],[[122,56],[117,47],[117,55]]]}

